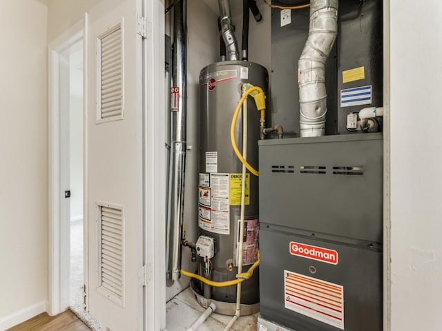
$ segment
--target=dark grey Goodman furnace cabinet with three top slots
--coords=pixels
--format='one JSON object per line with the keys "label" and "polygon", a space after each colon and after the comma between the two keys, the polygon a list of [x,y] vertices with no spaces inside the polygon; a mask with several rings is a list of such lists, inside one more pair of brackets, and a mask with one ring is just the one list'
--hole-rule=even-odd
{"label": "dark grey Goodman furnace cabinet with three top slots", "polygon": [[259,152],[261,318],[381,331],[382,134],[260,141]]}

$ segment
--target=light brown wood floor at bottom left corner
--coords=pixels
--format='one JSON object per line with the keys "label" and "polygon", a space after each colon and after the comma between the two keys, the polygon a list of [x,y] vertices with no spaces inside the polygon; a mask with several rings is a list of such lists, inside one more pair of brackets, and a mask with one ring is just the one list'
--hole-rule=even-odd
{"label": "light brown wood floor at bottom left corner", "polygon": [[70,310],[57,316],[49,316],[44,312],[6,331],[90,331]]}

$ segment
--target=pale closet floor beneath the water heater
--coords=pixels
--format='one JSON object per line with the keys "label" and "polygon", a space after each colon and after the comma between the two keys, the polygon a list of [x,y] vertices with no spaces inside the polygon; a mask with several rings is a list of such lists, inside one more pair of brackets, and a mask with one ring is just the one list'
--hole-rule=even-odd
{"label": "pale closet floor beneath the water heater", "polygon": [[[190,288],[187,288],[166,304],[166,329],[167,331],[182,331],[200,317],[204,312],[193,297]],[[233,324],[233,331],[256,331],[258,313],[243,316]],[[231,320],[230,316],[213,313],[198,331],[222,331]]]}

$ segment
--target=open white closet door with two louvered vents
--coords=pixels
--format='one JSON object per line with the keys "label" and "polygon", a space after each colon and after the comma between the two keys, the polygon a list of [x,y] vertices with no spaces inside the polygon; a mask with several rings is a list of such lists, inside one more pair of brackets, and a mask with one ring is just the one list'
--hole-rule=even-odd
{"label": "open white closet door with two louvered vents", "polygon": [[111,331],[143,330],[141,2],[103,0],[88,12],[87,295]]}

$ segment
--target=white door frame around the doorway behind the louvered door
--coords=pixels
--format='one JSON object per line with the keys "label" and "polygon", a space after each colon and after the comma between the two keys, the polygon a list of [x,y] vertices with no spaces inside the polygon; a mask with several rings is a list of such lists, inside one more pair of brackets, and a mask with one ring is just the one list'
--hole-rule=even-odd
{"label": "white door frame around the doorway behind the louvered door", "polygon": [[[48,179],[49,179],[49,305],[48,314],[55,315],[63,312],[69,308],[70,297],[70,265],[66,261],[70,261],[70,229],[67,222],[61,222],[61,215],[64,214],[64,207],[62,204],[62,187],[63,182],[68,182],[69,179],[61,178],[61,150],[67,148],[68,141],[61,135],[61,90],[60,90],[60,65],[61,52],[69,48],[74,43],[83,39],[84,54],[86,52],[86,42],[84,32],[87,29],[87,20],[77,22],[72,28],[66,30],[57,39],[52,41],[48,46]],[[84,73],[86,77],[86,59],[84,59]],[[84,135],[86,135],[87,123],[87,86],[84,81],[84,95],[83,95],[83,112],[84,112]],[[84,168],[86,165],[86,137],[84,137]],[[66,177],[66,176],[65,176]],[[87,171],[84,169],[84,204],[87,201]],[[84,205],[84,229],[86,235],[87,222],[87,208]],[[84,273],[87,273],[87,241],[84,241]],[[86,280],[85,280],[86,283]],[[87,283],[86,289],[87,289]],[[86,290],[85,289],[85,290]],[[87,292],[87,291],[86,291]]]}

